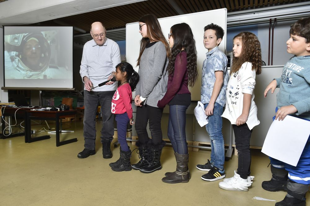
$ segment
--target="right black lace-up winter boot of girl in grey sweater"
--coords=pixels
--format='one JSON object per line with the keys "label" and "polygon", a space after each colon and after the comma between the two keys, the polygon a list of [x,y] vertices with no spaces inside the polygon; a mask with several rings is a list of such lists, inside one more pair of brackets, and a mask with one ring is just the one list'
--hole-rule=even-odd
{"label": "right black lace-up winter boot of girl in grey sweater", "polygon": [[165,146],[165,141],[162,143],[154,145],[151,144],[151,159],[148,161],[148,165],[141,167],[139,170],[142,173],[152,173],[156,170],[162,169],[162,164],[160,163],[160,156],[162,155],[162,148]]}

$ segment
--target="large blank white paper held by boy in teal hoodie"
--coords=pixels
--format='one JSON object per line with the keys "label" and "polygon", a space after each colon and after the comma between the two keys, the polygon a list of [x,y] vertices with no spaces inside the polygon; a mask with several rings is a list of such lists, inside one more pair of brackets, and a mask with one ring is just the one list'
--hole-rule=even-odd
{"label": "large blank white paper held by boy in teal hoodie", "polygon": [[274,120],[268,130],[262,152],[296,166],[310,135],[310,121],[287,115]]}

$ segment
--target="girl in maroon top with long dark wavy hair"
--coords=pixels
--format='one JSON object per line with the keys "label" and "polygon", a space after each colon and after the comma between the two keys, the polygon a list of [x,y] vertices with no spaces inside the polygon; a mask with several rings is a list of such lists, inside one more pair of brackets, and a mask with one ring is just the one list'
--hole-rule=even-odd
{"label": "girl in maroon top with long dark wavy hair", "polygon": [[166,183],[188,182],[188,148],[185,135],[186,109],[191,103],[189,86],[197,80],[197,51],[192,29],[188,24],[175,24],[168,34],[171,55],[167,71],[169,79],[165,96],[157,106],[169,105],[168,137],[177,162],[175,172],[167,172],[162,178]]}

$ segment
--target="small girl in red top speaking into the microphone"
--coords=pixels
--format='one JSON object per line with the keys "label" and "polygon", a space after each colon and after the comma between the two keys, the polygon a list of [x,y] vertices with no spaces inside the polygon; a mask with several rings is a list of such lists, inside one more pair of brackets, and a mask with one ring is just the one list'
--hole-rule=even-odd
{"label": "small girl in red top speaking into the microphone", "polygon": [[117,122],[117,140],[120,146],[120,157],[116,162],[110,163],[112,170],[130,171],[130,157],[131,151],[126,141],[126,130],[128,122],[133,125],[134,119],[132,116],[132,91],[139,81],[138,73],[132,68],[131,64],[127,62],[119,63],[116,66],[115,78],[119,81],[120,85],[117,87],[111,105],[111,112],[115,114]]}

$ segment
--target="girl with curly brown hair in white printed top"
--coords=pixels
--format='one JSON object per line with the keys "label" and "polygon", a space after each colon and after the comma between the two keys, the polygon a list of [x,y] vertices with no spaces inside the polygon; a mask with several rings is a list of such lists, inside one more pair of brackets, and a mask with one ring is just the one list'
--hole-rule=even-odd
{"label": "girl with curly brown hair in white printed top", "polygon": [[253,183],[250,176],[250,138],[253,127],[259,125],[254,102],[255,76],[262,71],[260,43],[251,32],[241,32],[233,38],[233,64],[226,92],[227,118],[235,134],[238,168],[232,178],[219,182],[219,187],[231,191],[248,191]]}

